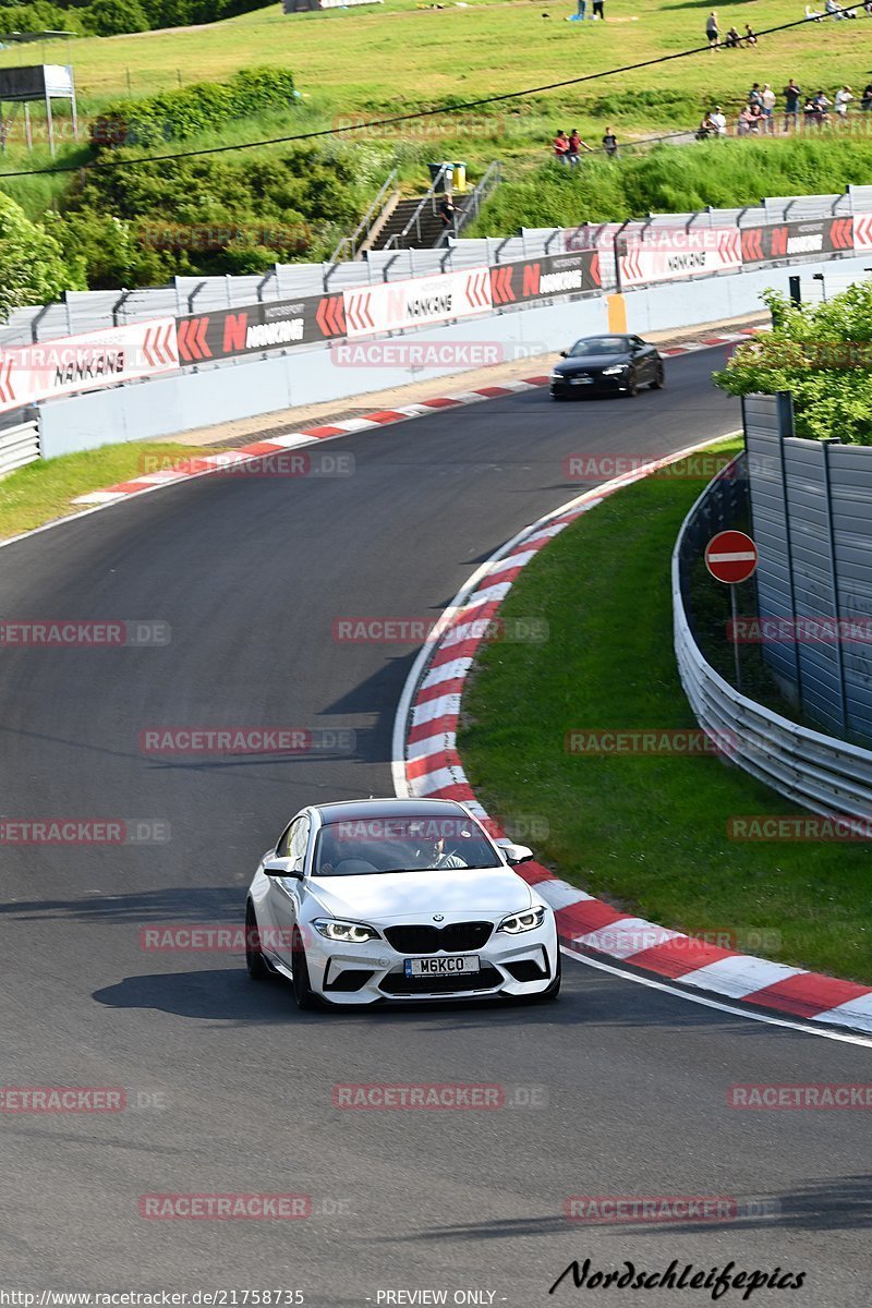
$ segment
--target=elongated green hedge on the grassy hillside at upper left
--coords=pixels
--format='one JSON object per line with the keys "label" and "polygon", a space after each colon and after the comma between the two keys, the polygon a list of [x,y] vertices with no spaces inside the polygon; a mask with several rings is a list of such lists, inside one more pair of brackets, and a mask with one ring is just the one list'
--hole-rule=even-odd
{"label": "elongated green hedge on the grassy hillside at upper left", "polygon": [[159,145],[184,141],[227,123],[295,103],[294,76],[285,68],[241,68],[226,82],[193,82],[143,99],[119,99],[92,123],[92,144]]}

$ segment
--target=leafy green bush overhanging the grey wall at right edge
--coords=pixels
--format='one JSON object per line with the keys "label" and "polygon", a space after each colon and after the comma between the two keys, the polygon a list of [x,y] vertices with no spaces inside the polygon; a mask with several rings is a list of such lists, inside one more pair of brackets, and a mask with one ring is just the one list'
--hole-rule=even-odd
{"label": "leafy green bush overhanging the grey wall at right edge", "polygon": [[791,391],[796,434],[872,445],[872,283],[821,305],[766,294],[773,331],[740,345],[715,382],[731,395]]}

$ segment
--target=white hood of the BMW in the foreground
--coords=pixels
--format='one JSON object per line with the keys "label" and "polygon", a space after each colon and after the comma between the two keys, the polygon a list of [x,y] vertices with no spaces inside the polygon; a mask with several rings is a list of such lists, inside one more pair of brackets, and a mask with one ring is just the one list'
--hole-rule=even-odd
{"label": "white hood of the BMW in the foreground", "polygon": [[374,876],[318,876],[311,893],[333,917],[354,921],[429,922],[434,913],[519,913],[529,908],[526,882],[509,867],[438,872],[378,872]]}

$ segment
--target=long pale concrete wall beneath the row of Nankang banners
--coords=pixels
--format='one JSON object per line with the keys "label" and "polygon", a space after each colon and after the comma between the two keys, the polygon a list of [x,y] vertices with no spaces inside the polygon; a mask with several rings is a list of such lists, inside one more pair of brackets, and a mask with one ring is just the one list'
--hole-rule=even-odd
{"label": "long pale concrete wall beneath the row of Nankang banners", "polygon": [[[848,273],[862,277],[868,262],[867,256],[803,263],[628,292],[628,330],[667,331],[750,314],[762,307],[760,294],[767,286],[787,293],[791,273],[801,272],[804,279],[816,272],[839,279]],[[596,296],[467,319],[392,339],[433,344],[494,341],[503,347],[505,357],[511,358],[520,352],[531,356],[557,352],[578,336],[605,330],[607,300]],[[213,422],[267,416],[298,404],[341,400],[424,377],[456,377],[461,371],[456,365],[428,369],[339,366],[329,348],[301,347],[267,358],[200,371],[191,369],[174,377],[48,400],[39,405],[41,449],[43,458],[51,459],[75,450],[173,436]]]}

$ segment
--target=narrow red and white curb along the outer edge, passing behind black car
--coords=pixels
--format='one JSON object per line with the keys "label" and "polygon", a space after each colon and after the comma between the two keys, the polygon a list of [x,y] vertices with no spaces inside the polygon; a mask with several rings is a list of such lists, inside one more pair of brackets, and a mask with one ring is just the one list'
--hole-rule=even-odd
{"label": "narrow red and white curb along the outer edge, passing behind black car", "polygon": [[[663,347],[662,354],[690,354],[698,349],[711,349],[714,345],[731,345],[753,336],[758,328],[746,327],[737,332],[723,332],[718,336],[707,336],[705,340],[689,341],[684,345]],[[277,455],[286,450],[298,450],[306,445],[315,445],[318,441],[328,441],[336,436],[349,436],[354,432],[366,432],[371,428],[390,426],[392,422],[405,422],[412,417],[426,417],[428,413],[439,413],[447,408],[458,408],[461,404],[478,404],[481,400],[499,399],[505,395],[515,395],[518,391],[536,390],[548,386],[549,377],[527,377],[523,381],[501,382],[497,386],[480,386],[476,390],[455,391],[452,395],[441,395],[435,399],[421,400],[417,404],[399,404],[391,409],[377,409],[365,417],[346,419],[345,421],[326,422],[320,426],[310,426],[301,432],[290,432],[288,436],[269,437],[256,441],[254,445],[243,445],[235,450],[226,450],[221,454],[205,454],[196,458],[179,458],[176,467],[161,470],[158,472],[145,472],[143,476],[131,477],[128,481],[119,481],[114,487],[103,490],[89,490],[80,494],[73,504],[107,505],[124,500],[128,496],[145,494],[165,485],[174,485],[179,481],[191,481],[193,477],[208,476],[209,473],[226,472],[229,468],[251,463],[269,455]]]}

